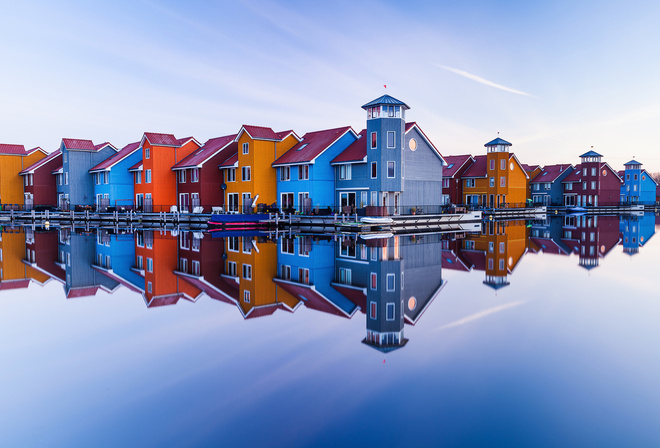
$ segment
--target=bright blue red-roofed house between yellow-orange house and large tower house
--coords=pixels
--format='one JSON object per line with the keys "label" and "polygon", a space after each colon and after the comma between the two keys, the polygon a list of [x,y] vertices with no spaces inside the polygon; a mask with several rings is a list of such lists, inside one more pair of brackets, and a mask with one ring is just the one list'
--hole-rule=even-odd
{"label": "bright blue red-roofed house between yellow-orange house and large tower house", "polygon": [[335,173],[330,161],[358,138],[350,126],[308,132],[282,154],[277,170],[277,206],[303,213],[335,207]]}

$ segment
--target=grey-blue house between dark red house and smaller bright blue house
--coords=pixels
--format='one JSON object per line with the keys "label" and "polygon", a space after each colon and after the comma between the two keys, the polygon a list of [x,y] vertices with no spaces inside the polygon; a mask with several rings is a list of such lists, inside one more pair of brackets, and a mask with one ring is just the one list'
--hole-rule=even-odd
{"label": "grey-blue house between dark red house and smaller bright blue house", "polygon": [[63,138],[60,144],[62,168],[56,170],[58,204],[68,210],[75,206],[92,206],[94,180],[89,170],[117,153],[110,143],[94,145],[91,140]]}

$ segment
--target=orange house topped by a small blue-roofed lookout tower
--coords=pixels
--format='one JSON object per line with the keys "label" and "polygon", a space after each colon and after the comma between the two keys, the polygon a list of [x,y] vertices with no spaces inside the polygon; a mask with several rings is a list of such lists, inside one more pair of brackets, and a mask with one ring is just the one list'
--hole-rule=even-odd
{"label": "orange house topped by a small blue-roofed lookout tower", "polygon": [[465,203],[481,207],[524,207],[528,197],[529,175],[513,153],[511,143],[496,138],[484,145],[485,156],[476,156],[463,173]]}

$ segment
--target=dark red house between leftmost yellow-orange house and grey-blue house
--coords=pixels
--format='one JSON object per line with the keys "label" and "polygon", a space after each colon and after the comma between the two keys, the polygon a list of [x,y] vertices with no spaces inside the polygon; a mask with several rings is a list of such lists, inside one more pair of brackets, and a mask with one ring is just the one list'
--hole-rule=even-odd
{"label": "dark red house between leftmost yellow-orange house and grey-blue house", "polygon": [[57,182],[53,171],[62,166],[62,151],[58,148],[43,159],[21,171],[25,209],[57,207]]}

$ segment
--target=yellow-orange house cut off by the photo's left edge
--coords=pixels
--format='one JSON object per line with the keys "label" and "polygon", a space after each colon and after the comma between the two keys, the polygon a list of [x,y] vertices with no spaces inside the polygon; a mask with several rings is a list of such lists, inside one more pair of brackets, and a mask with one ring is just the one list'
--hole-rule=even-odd
{"label": "yellow-orange house cut off by the photo's left edge", "polygon": [[[41,148],[26,151],[23,145],[0,144],[0,204],[15,208],[25,204],[24,180],[18,173],[47,155]],[[25,181],[29,182],[28,176]]]}

